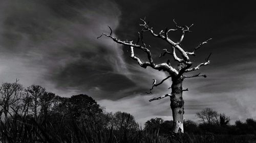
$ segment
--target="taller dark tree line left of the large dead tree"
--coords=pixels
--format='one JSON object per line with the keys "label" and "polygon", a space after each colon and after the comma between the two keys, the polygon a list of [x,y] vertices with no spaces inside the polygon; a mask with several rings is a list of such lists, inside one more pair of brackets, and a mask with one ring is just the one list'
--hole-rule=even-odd
{"label": "taller dark tree line left of the large dead tree", "polygon": [[25,89],[16,80],[13,83],[2,83],[0,96],[0,121],[3,123],[26,118],[38,123],[61,119],[61,122],[86,120],[113,128],[131,129],[138,126],[129,113],[106,112],[104,107],[85,94],[73,95],[70,98],[60,97],[47,92],[40,85],[33,84]]}

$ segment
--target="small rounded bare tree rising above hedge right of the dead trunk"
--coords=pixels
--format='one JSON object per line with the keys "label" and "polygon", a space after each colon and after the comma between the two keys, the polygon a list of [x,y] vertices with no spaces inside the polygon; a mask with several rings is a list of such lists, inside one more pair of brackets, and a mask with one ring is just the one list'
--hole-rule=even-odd
{"label": "small rounded bare tree rising above hedge right of the dead trunk", "polygon": [[199,118],[199,121],[202,123],[208,123],[208,124],[219,124],[219,114],[217,111],[211,109],[211,108],[205,108],[200,112],[196,113],[196,116]]}

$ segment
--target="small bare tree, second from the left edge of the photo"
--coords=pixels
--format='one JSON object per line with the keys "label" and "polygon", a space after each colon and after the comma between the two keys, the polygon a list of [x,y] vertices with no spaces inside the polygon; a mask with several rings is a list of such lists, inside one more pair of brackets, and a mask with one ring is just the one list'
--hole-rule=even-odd
{"label": "small bare tree, second from the left edge of the photo", "polygon": [[28,95],[27,98],[30,98],[30,108],[34,115],[35,121],[37,121],[38,111],[41,105],[40,99],[44,94],[46,94],[46,89],[41,87],[40,85],[31,85],[25,91]]}

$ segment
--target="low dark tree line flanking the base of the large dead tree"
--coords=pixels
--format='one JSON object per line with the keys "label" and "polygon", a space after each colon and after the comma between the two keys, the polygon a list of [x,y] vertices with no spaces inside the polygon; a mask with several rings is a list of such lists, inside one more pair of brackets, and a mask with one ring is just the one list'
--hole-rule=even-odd
{"label": "low dark tree line flanking the base of the large dead tree", "polygon": [[[252,118],[245,122],[237,120],[231,125],[230,118],[225,113],[218,113],[212,108],[204,108],[196,113],[198,122],[184,120],[184,129],[187,133],[193,134],[230,134],[230,135],[255,135],[256,121]],[[145,130],[159,130],[163,135],[170,134],[173,128],[173,121],[164,121],[161,118],[151,119],[145,122]]]}

